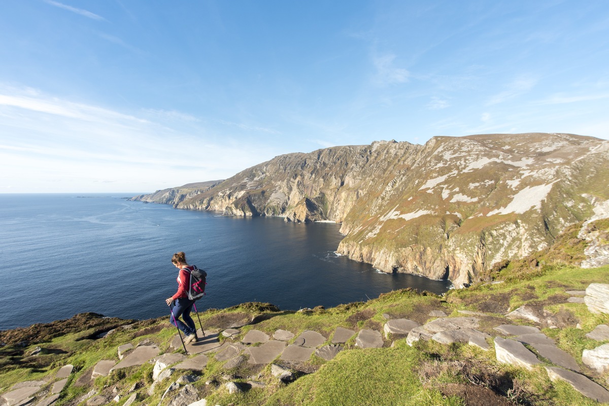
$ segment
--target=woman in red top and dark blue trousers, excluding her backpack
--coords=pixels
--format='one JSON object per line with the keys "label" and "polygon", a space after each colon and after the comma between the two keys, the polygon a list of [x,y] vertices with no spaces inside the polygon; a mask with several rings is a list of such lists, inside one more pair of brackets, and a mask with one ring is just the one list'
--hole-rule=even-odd
{"label": "woman in red top and dark blue trousers, excluding her backpack", "polygon": [[[171,318],[169,321],[177,324],[177,327],[184,332],[186,338],[184,343],[188,344],[192,341],[197,342],[197,328],[194,325],[194,320],[190,317],[192,305],[194,301],[188,298],[188,280],[189,272],[195,269],[194,266],[186,263],[186,254],[183,252],[175,253],[171,258],[171,263],[179,269],[178,272],[178,291],[175,295],[168,297],[165,302],[167,306],[171,306],[171,302],[175,302],[175,306],[171,311]],[[184,322],[180,320],[182,317]]]}

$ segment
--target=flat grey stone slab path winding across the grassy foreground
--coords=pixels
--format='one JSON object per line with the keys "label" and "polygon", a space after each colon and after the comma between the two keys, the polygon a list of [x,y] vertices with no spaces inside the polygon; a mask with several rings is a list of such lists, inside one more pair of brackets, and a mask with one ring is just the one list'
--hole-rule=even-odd
{"label": "flat grey stone slab path winding across the grassy foreground", "polygon": [[[567,302],[576,303],[576,305],[583,302],[590,311],[609,312],[609,285],[593,285],[586,291],[566,292],[571,295]],[[552,381],[564,380],[584,396],[599,402],[609,402],[609,391],[583,375],[582,368],[576,359],[558,348],[554,340],[543,334],[539,328],[511,324],[498,325],[495,326],[496,333],[493,335],[499,336],[493,337],[478,329],[481,324],[479,317],[487,317],[487,314],[463,310],[459,311],[459,314],[463,316],[446,317],[442,311],[432,311],[429,316],[437,318],[424,325],[406,318],[387,317],[389,320],[384,324],[382,331],[373,329],[353,331],[337,327],[333,334],[329,334],[329,337],[312,330],[304,331],[295,337],[293,332],[283,329],[278,329],[272,334],[251,329],[247,334],[242,335],[238,328],[229,328],[220,332],[205,331],[205,336],[203,336],[203,332],[199,329],[197,335],[200,339],[186,345],[188,356],[181,352],[159,355],[160,349],[152,343],[140,343],[135,348],[132,343],[127,343],[118,347],[118,363],[115,360],[100,360],[94,366],[91,377],[94,379],[99,376],[107,376],[115,370],[154,362],[152,376],[154,382],[149,388],[153,391],[160,382],[171,377],[177,370],[205,370],[209,357],[214,357],[217,362],[222,363],[221,368],[227,372],[238,368],[245,362],[250,365],[270,364],[273,375],[280,377],[284,382],[289,382],[295,379],[292,372],[273,362],[278,359],[288,362],[306,362],[311,359],[313,354],[325,360],[332,360],[340,351],[344,351],[342,345],[347,342],[354,343],[355,346],[362,349],[382,348],[385,346],[385,340],[406,337],[406,342],[411,346],[419,340],[434,340],[446,345],[466,343],[488,351],[491,349],[492,343],[499,362],[521,366],[528,370],[543,365]],[[533,322],[538,320],[539,316],[538,310],[527,306],[521,306],[516,311],[505,315],[507,318],[525,318]],[[494,315],[493,318],[496,316]],[[485,320],[485,325],[490,328],[488,320],[490,319]],[[539,325],[544,325],[544,322],[547,320],[538,320]],[[547,326],[547,323],[545,325]],[[220,342],[220,334],[223,337],[222,342]],[[609,326],[599,325],[586,334],[586,337],[599,342],[607,341],[609,340]],[[183,349],[179,335],[174,336],[171,348]],[[599,374],[607,373],[609,370],[609,343],[584,350],[582,363]],[[52,380],[21,382],[13,385],[9,392],[2,394],[2,399],[6,406],[32,403],[36,394],[44,387],[48,390],[45,389],[46,391],[43,393],[48,392],[48,395],[35,406],[51,406],[66,387],[73,370],[74,366],[65,365],[57,371]],[[183,376],[181,379],[194,382],[197,377]],[[178,394],[174,395],[175,398],[196,397],[186,390],[187,387],[192,386],[186,381],[184,387],[180,387],[174,382],[167,388],[163,396],[172,391],[178,391]],[[234,384],[234,382],[228,384]],[[264,387],[265,384],[252,380],[250,385]],[[241,386],[234,384],[229,390],[239,391],[242,390]],[[135,387],[130,393],[127,393],[131,396],[125,405],[128,406],[136,401],[135,393],[131,393],[134,391]],[[114,401],[121,401],[121,396],[114,398]],[[100,395],[93,391],[83,397],[80,402],[86,401],[89,406],[95,406],[96,404],[107,404],[111,400],[112,396]]]}

